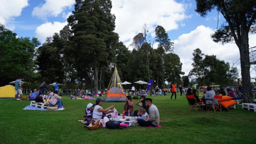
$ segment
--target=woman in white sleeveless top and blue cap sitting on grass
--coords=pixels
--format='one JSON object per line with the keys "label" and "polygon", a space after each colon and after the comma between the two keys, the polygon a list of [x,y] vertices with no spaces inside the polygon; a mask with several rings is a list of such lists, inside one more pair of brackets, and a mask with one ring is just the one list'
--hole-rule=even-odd
{"label": "woman in white sleeveless top and blue cap sitting on grass", "polygon": [[114,111],[109,111],[110,109],[114,108],[114,106],[110,106],[109,108],[103,109],[101,106],[103,104],[104,99],[97,98],[96,99],[96,104],[92,113],[92,118],[93,119],[101,119],[103,114],[109,114],[113,113]]}

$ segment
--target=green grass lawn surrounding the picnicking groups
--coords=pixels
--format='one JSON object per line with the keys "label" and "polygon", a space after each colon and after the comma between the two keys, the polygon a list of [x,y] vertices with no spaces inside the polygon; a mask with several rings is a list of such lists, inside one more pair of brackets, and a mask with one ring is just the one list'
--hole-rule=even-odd
{"label": "green grass lawn surrounding the picnicking groups", "polygon": [[[62,96],[63,111],[22,110],[30,101],[0,99],[1,144],[85,144],[85,143],[140,143],[189,144],[223,143],[255,144],[256,113],[242,109],[229,112],[188,111],[187,99],[177,94],[150,97],[160,113],[162,128],[128,127],[90,131],[79,122],[85,107],[95,100],[71,100]],[[114,105],[121,113],[124,103],[104,103],[103,108]],[[134,106],[134,110],[139,106]]]}

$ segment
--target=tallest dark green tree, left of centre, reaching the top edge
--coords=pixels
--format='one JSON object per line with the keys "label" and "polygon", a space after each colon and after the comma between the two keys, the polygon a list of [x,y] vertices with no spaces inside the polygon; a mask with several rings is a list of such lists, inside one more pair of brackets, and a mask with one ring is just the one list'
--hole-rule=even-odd
{"label": "tallest dark green tree, left of centre, reaching the top edge", "polygon": [[115,16],[110,0],[76,0],[75,10],[67,21],[71,26],[77,65],[86,63],[94,73],[95,91],[98,90],[100,63],[114,56],[118,34],[114,33]]}

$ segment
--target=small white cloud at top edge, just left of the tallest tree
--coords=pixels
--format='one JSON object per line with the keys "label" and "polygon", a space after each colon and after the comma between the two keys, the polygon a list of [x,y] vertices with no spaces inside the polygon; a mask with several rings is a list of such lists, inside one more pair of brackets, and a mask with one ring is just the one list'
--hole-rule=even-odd
{"label": "small white cloud at top edge, just left of the tallest tree", "polygon": [[32,16],[36,16],[43,20],[47,17],[57,17],[67,8],[74,5],[75,0],[45,0],[45,3],[33,8]]}

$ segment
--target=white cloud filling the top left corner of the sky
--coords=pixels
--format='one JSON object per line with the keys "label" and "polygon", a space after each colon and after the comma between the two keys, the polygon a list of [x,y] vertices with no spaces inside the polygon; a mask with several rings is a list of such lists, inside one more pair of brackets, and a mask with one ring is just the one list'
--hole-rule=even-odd
{"label": "white cloud filling the top left corner of the sky", "polygon": [[28,6],[28,0],[0,0],[0,23],[13,30],[12,20],[21,15],[22,9]]}

